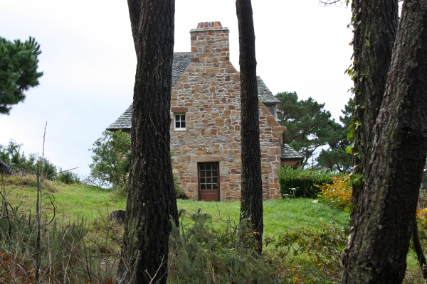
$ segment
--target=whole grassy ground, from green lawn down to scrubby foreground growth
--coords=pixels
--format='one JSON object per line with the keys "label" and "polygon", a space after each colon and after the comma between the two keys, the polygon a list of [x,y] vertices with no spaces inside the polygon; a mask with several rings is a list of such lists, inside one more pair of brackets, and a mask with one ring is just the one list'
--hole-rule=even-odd
{"label": "whole grassy ground, from green lawn down to scrubby foreground growth", "polygon": [[[15,208],[20,204],[19,210],[25,211],[27,216],[30,211],[33,214],[36,204],[36,181],[31,176],[3,177],[3,182],[0,180],[0,183],[4,185],[1,190],[8,194],[7,199]],[[49,272],[49,277],[63,279],[61,269],[68,266],[68,259],[76,258],[75,264],[68,268],[71,281],[68,283],[80,283],[77,279],[85,283],[105,283],[105,279],[112,279],[120,256],[122,226],[108,221],[108,214],[117,209],[125,209],[125,197],[117,197],[110,190],[88,185],[65,185],[48,180],[43,185],[43,191],[55,197],[56,224],[58,224],[57,229],[52,227],[53,231],[43,232],[43,240],[47,240],[50,244],[53,244],[52,241],[56,238],[55,247],[45,252],[49,256],[56,253],[60,256],[58,259],[66,260],[50,263],[46,256],[43,267],[45,271],[52,271]],[[223,281],[230,283],[231,278],[236,280],[238,277],[251,278],[253,283],[257,283],[256,279],[264,280],[258,283],[273,283],[269,282],[273,278],[277,280],[275,283],[305,283],[306,280],[309,281],[307,283],[325,283],[325,279],[332,279],[328,283],[336,283],[341,269],[339,251],[347,242],[347,232],[342,233],[344,232],[342,228],[348,227],[349,214],[338,207],[310,199],[265,201],[263,206],[265,253],[262,258],[252,258],[250,253],[245,253],[236,245],[238,239],[233,239],[233,236],[236,236],[233,230],[238,225],[240,202],[178,200],[178,208],[189,212],[187,216],[191,218],[181,218],[182,234],[174,236],[175,239],[171,242],[172,253],[176,252],[171,256],[171,269],[176,270],[171,271],[169,283],[223,283]],[[49,211],[46,212],[51,214]],[[203,214],[198,215],[194,212]],[[194,227],[195,220],[200,222],[197,216],[207,217],[206,220],[202,219],[204,225]],[[29,224],[25,219],[22,222]],[[68,236],[72,232],[68,228],[82,231],[83,233],[79,233],[82,241],[78,241],[77,238],[74,243],[75,234]],[[196,234],[197,230],[201,230],[201,234]],[[21,240],[28,239],[27,235],[33,234],[29,228],[22,231],[16,227],[16,232]],[[64,239],[65,236],[73,238],[67,240]],[[189,240],[191,244],[184,244]],[[209,249],[211,245],[208,247],[208,244],[215,244],[214,249]],[[28,272],[26,275],[33,273],[31,250],[22,250],[23,253],[14,254],[18,249],[17,243],[16,246],[9,244],[6,246],[6,243],[2,246],[0,261],[26,265]],[[26,241],[25,246],[31,249],[29,241]],[[330,249],[337,249],[332,251],[334,266],[325,262],[325,256],[331,252]],[[77,259],[79,253],[83,256],[80,261]],[[87,272],[89,268],[85,263],[90,264],[90,269],[93,269],[91,275],[96,280],[90,280],[90,274]],[[234,271],[228,271],[228,264],[231,266],[231,263]],[[49,268],[53,264],[56,265],[55,269]],[[206,276],[209,272],[205,269],[210,266],[212,273]],[[14,263],[9,267],[13,268]],[[216,272],[214,273],[212,269]],[[58,272],[55,274],[54,271]],[[199,280],[196,278],[191,280],[191,271],[201,272],[197,278]],[[4,276],[1,273],[0,269],[0,278]],[[265,278],[260,278],[263,273]],[[406,275],[405,283],[422,283],[422,276],[413,253],[408,254]]]}

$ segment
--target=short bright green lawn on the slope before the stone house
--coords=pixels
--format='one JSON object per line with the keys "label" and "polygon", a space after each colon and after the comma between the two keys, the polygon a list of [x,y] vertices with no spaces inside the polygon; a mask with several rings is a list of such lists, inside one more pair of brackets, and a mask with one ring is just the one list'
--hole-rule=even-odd
{"label": "short bright green lawn on the slope before the stone house", "polygon": [[[4,177],[4,190],[12,206],[20,204],[21,210],[34,212],[36,204],[36,181],[31,177]],[[110,190],[88,185],[64,185],[60,182],[46,181],[43,192],[55,197],[56,218],[65,222],[85,217],[88,223],[100,217],[106,218],[110,212],[125,209],[126,198],[117,197]],[[264,205],[264,232],[266,235],[280,234],[285,229],[316,228],[322,221],[336,220],[346,224],[349,214],[313,200],[270,200]],[[240,202],[203,202],[178,200],[178,209],[192,213],[201,208],[201,212],[211,214],[213,224],[221,225],[221,219],[238,222]],[[49,214],[49,210],[46,210]]]}

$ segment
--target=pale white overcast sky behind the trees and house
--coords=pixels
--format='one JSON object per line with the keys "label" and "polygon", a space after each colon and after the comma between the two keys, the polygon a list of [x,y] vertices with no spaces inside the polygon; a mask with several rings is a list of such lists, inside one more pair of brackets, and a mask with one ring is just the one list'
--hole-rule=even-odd
{"label": "pale white overcast sky behind the trees and house", "polygon": [[[352,81],[350,9],[317,0],[252,0],[258,75],[273,94],[297,92],[326,103],[338,119]],[[176,0],[176,52],[190,50],[191,28],[221,21],[230,29],[231,62],[238,67],[234,0]],[[0,115],[0,144],[23,143],[63,169],[88,175],[88,149],[132,102],[136,57],[127,1],[0,0],[0,36],[36,38],[43,53],[40,85],[9,116]]]}

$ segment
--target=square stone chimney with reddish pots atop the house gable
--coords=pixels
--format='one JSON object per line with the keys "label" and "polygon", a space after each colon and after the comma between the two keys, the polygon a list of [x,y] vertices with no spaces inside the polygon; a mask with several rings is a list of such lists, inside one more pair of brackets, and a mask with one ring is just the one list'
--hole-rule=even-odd
{"label": "square stone chimney with reddish pots atop the house gable", "polygon": [[191,62],[221,65],[230,60],[228,28],[221,22],[201,22],[190,31]]}

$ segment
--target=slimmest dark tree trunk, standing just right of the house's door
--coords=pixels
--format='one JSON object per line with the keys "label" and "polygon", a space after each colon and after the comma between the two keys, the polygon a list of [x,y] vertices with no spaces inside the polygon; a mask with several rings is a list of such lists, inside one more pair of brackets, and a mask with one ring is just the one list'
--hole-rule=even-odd
{"label": "slimmest dark tree trunk, standing just right of the house's door", "polygon": [[255,31],[251,0],[237,0],[241,72],[241,220],[250,219],[257,233],[257,251],[263,250],[263,182],[261,179],[260,120],[256,80]]}

